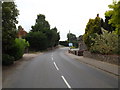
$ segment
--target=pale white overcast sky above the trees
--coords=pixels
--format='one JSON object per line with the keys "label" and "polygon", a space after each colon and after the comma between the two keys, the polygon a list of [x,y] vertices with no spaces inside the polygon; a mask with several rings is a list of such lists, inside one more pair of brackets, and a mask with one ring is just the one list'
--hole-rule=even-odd
{"label": "pale white overcast sky above the trees", "polygon": [[67,40],[67,33],[83,35],[90,18],[97,13],[104,19],[105,11],[113,0],[15,0],[20,15],[19,24],[27,32],[35,25],[38,14],[44,14],[51,28],[60,31],[60,40]]}

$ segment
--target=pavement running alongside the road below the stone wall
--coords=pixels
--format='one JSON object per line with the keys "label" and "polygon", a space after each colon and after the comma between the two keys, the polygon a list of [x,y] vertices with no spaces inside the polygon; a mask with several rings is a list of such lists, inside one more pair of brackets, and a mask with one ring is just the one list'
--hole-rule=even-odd
{"label": "pavement running alongside the road below the stone wall", "polygon": [[120,66],[118,66],[118,65],[114,65],[114,64],[107,63],[107,62],[98,61],[98,60],[95,60],[95,59],[92,59],[92,58],[83,57],[83,56],[76,56],[76,55],[68,53],[68,52],[66,52],[66,54],[68,56],[70,56],[71,58],[79,60],[79,61],[81,61],[83,63],[86,63],[86,64],[91,65],[93,67],[96,67],[98,69],[101,69],[103,71],[106,71],[108,73],[120,76],[120,73],[119,73]]}

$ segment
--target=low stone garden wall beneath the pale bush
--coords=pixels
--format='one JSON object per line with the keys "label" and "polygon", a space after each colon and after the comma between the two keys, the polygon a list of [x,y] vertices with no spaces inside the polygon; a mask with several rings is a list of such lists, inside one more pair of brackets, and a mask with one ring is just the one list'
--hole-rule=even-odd
{"label": "low stone garden wall beneath the pale bush", "polygon": [[103,62],[108,62],[111,64],[120,65],[119,64],[120,56],[117,56],[117,55],[101,55],[101,54],[94,54],[89,51],[84,51],[83,56],[88,57],[88,58],[93,58],[93,59],[103,61]]}

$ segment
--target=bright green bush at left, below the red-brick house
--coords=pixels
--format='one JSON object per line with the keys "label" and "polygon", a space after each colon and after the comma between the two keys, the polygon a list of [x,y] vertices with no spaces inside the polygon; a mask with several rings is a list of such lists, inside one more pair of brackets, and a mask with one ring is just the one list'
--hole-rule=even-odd
{"label": "bright green bush at left, below the red-brick house", "polygon": [[22,58],[25,48],[29,46],[29,43],[26,42],[25,39],[19,39],[16,38],[15,39],[15,45],[14,47],[11,49],[11,56],[13,56],[15,58],[15,60],[18,60],[20,58]]}

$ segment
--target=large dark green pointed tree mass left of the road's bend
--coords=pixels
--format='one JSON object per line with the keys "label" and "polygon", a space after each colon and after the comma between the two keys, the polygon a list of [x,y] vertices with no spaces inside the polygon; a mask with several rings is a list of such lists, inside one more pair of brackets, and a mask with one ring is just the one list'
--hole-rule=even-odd
{"label": "large dark green pointed tree mass left of the road's bend", "polygon": [[36,23],[31,27],[31,32],[25,37],[30,43],[30,48],[37,51],[55,47],[59,43],[60,35],[56,27],[50,29],[45,15],[37,15]]}

